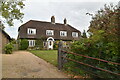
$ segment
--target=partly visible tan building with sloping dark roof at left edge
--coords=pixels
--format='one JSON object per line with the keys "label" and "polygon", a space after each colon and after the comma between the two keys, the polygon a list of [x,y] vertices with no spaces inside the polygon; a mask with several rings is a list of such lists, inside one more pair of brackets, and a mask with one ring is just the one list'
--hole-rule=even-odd
{"label": "partly visible tan building with sloping dark roof at left edge", "polygon": [[10,42],[10,36],[0,28],[0,53],[4,53],[4,47]]}

